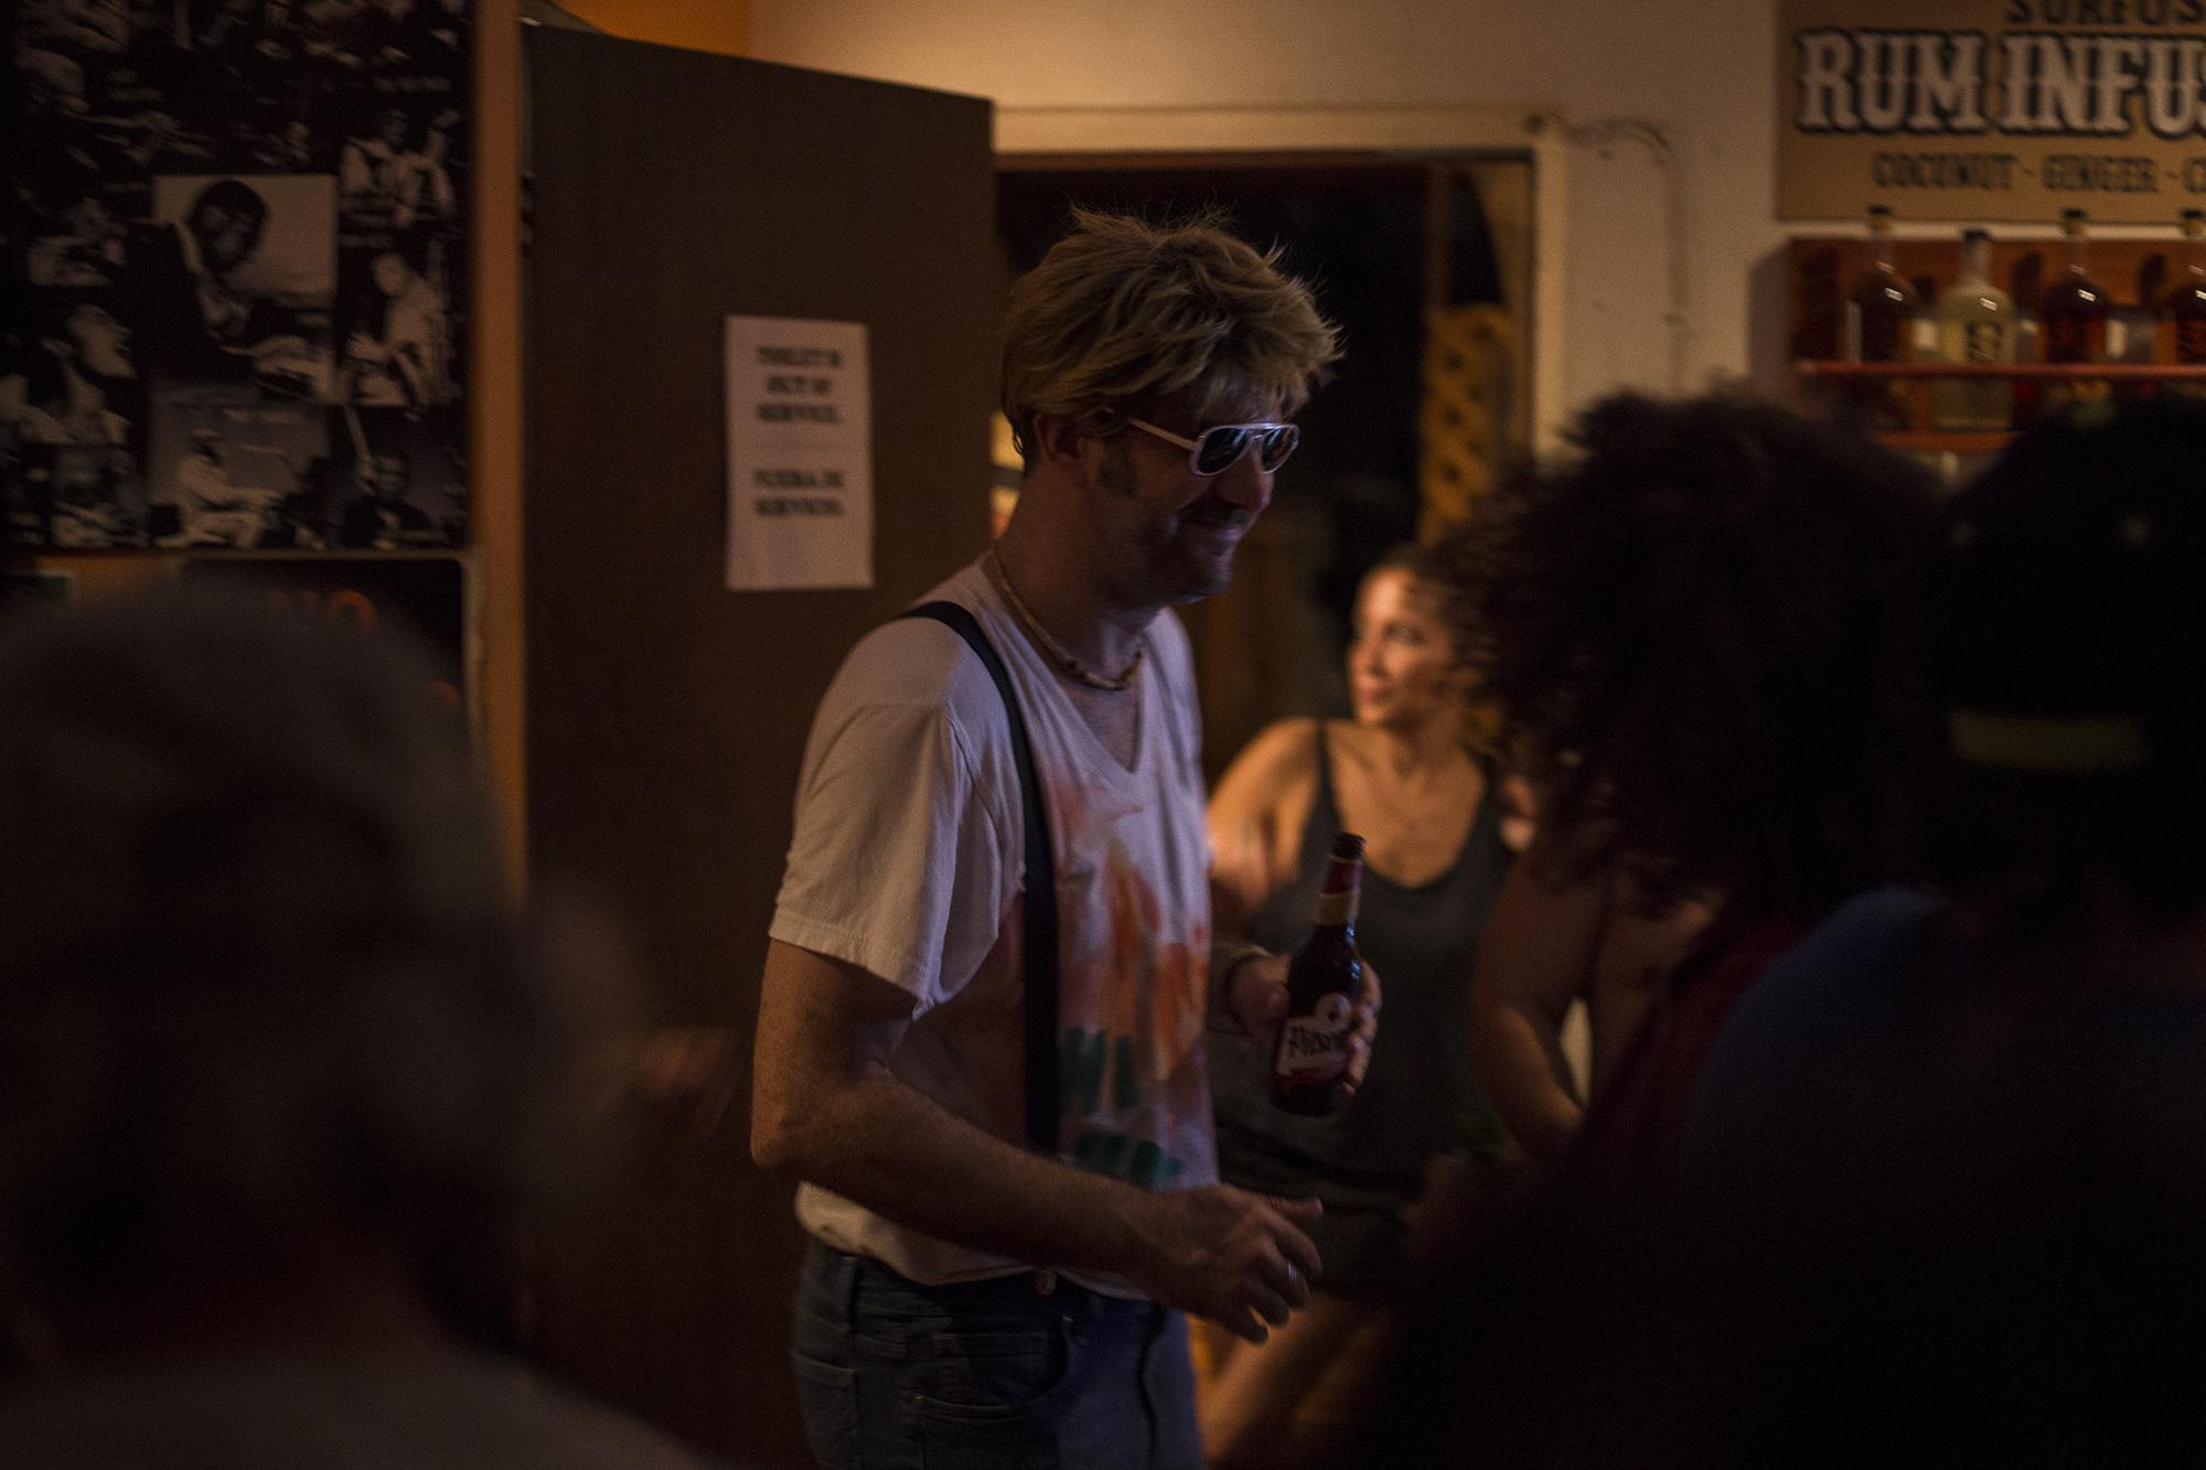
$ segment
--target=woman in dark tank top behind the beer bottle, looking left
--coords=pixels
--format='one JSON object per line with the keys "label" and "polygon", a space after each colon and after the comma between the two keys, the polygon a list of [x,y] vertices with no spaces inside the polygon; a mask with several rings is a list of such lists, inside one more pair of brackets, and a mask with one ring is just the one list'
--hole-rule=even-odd
{"label": "woman in dark tank top behind the beer bottle, looking left", "polygon": [[1480,728],[1474,592],[1434,547],[1396,547],[1354,603],[1354,720],[1282,720],[1211,797],[1218,925],[1288,951],[1310,929],[1332,839],[1366,841],[1359,951],[1388,976],[1388,1024],[1354,1101],[1330,1117],[1271,1104],[1271,1048],[1211,1040],[1218,1170],[1244,1190],[1315,1194],[1326,1260],[1310,1304],[1264,1344],[1204,1331],[1211,1463],[1297,1463],[1354,1410],[1383,1362],[1407,1216],[1441,1168],[1493,1168],[1504,1139],[1471,1070],[1463,978],[1522,845]]}

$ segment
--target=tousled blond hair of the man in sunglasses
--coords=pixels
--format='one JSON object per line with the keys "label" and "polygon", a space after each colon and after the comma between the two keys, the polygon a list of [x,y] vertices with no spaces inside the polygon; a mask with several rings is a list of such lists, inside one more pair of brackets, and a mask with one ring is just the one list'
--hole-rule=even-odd
{"label": "tousled blond hair of the man in sunglasses", "polygon": [[1341,355],[1339,329],[1277,260],[1216,212],[1152,225],[1074,210],[1004,318],[1004,417],[1028,466],[1043,413],[1112,433],[1167,404],[1196,419],[1302,408]]}

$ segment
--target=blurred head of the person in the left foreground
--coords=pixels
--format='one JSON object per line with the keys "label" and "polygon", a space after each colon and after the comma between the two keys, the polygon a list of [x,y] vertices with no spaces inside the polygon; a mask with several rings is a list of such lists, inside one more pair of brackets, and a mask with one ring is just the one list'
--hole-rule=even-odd
{"label": "blurred head of the person in the left foreground", "polygon": [[0,1260],[57,1320],[426,1269],[558,1179],[587,1018],[430,682],[205,589],[0,629]]}

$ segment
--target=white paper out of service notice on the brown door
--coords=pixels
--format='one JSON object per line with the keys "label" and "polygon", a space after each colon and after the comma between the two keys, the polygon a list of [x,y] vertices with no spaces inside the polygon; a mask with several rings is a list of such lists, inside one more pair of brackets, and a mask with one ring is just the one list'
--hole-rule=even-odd
{"label": "white paper out of service notice on the brown door", "polygon": [[874,585],[863,322],[728,318],[728,589]]}

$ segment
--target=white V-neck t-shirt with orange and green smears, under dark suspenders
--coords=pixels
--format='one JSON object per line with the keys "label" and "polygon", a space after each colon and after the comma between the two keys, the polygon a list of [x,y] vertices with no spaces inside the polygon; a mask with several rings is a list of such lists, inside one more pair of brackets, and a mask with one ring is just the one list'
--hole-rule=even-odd
{"label": "white V-neck t-shirt with orange and green smears, under dark suspenders", "polygon": [[[1057,859],[1063,1157],[1149,1190],[1216,1183],[1200,1046],[1209,839],[1187,631],[1160,614],[1143,633],[1127,770],[979,563],[922,600],[979,618],[1035,748]],[[772,936],[909,991],[913,1022],[889,1070],[1015,1143],[1026,1139],[1024,841],[1010,726],[979,658],[931,618],[867,633],[812,722]],[[938,1240],[810,1183],[796,1216],[827,1245],[922,1282],[1054,1265]]]}

